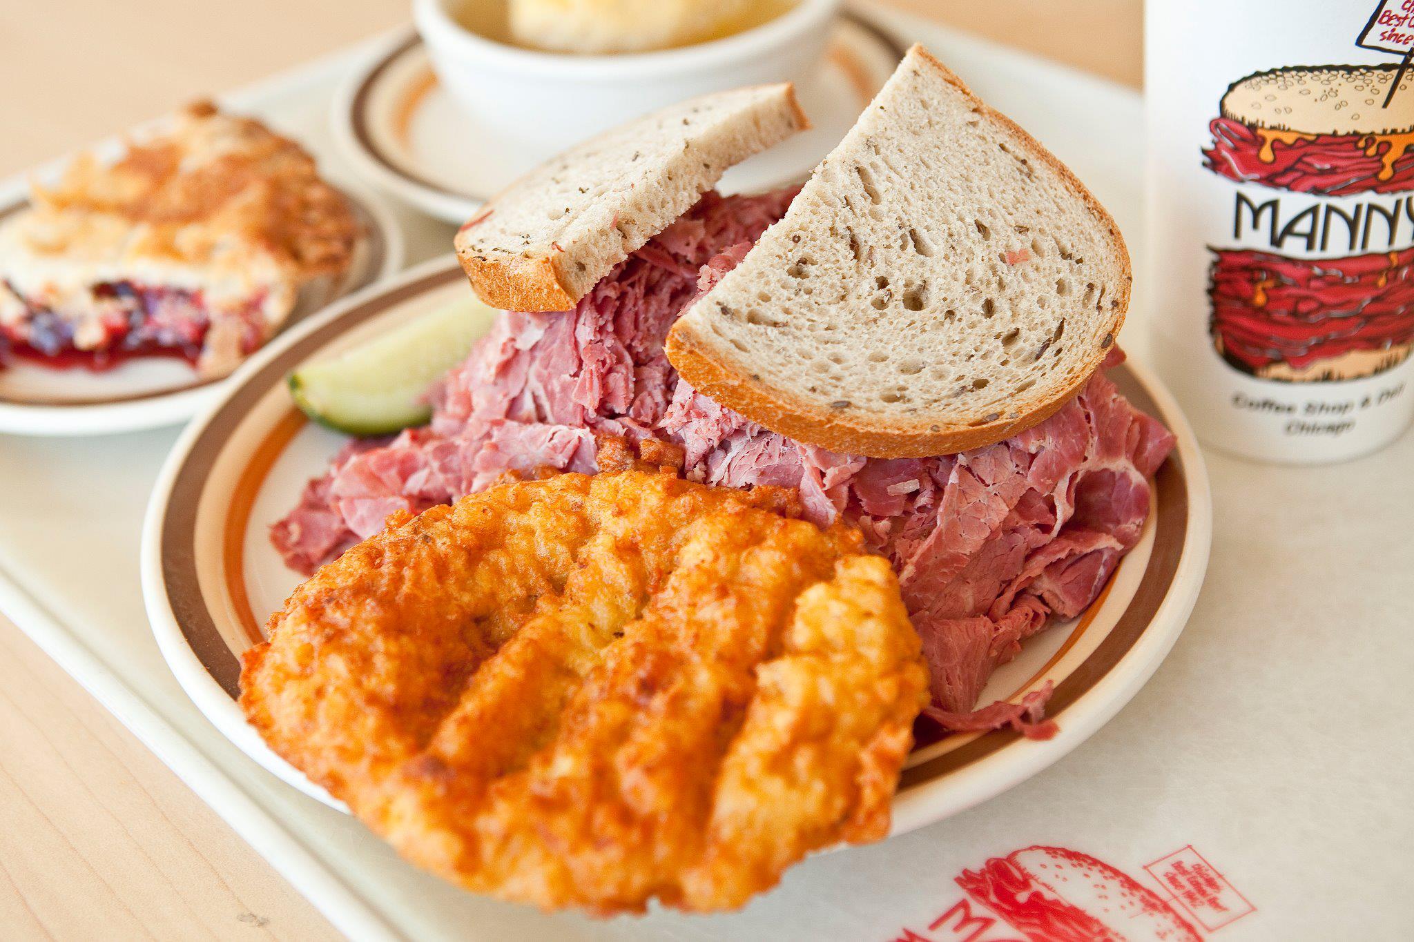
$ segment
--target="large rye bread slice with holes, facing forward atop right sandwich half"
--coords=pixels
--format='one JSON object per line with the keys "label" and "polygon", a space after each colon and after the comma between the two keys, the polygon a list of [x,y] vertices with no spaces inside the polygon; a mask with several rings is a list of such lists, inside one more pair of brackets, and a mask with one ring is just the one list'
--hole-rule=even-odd
{"label": "large rye bread slice with holes, facing forward atop right sandwich half", "polygon": [[1109,213],[915,45],[786,216],[673,326],[667,357],[836,452],[980,448],[1053,414],[1130,301]]}

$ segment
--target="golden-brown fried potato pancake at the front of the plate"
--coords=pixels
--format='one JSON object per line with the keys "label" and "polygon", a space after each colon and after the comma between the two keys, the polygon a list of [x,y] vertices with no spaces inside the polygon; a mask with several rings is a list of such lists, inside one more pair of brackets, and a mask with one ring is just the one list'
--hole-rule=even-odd
{"label": "golden-brown fried potato pancake at the front of the plate", "polygon": [[792,508],[639,465],[392,518],[271,616],[240,705],[468,890],[737,908],[887,833],[928,699],[889,565]]}

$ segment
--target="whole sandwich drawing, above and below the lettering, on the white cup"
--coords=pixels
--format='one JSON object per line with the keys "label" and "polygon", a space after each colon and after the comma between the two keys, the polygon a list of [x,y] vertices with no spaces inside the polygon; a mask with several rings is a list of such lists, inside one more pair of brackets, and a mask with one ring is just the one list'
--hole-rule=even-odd
{"label": "whole sandwich drawing, above and below the lettering, on the white cup", "polygon": [[[1210,124],[1205,165],[1239,184],[1372,203],[1332,203],[1326,219],[1365,212],[1366,230],[1374,213],[1397,220],[1400,206],[1380,201],[1414,189],[1411,75],[1393,64],[1322,65],[1239,79]],[[1229,366],[1263,380],[1321,383],[1408,359],[1414,249],[1308,258],[1270,247],[1210,246],[1209,329]]]}

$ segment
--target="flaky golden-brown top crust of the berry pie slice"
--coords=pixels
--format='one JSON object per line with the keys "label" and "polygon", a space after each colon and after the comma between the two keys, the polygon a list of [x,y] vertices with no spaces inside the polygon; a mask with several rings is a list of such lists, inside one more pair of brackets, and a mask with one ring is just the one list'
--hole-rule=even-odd
{"label": "flaky golden-brown top crust of the berry pie slice", "polygon": [[209,103],[115,164],[85,154],[57,185],[33,189],[30,249],[44,254],[105,256],[120,239],[133,261],[202,266],[239,246],[311,278],[344,271],[362,234],[298,144]]}

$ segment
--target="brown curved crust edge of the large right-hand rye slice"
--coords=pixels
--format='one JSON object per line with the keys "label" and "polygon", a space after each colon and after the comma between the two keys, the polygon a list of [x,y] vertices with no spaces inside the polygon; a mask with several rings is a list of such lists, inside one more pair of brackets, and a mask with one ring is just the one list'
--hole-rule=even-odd
{"label": "brown curved crust edge of the large right-hand rye slice", "polygon": [[952,455],[1004,441],[1044,422],[1085,388],[1094,371],[1100,369],[1114,345],[1114,338],[1118,336],[1120,328],[1124,325],[1134,282],[1128,249],[1118,226],[1076,175],[1015,121],[988,107],[957,75],[922,45],[915,45],[909,52],[916,54],[929,66],[937,69],[943,81],[954,86],[978,113],[1014,134],[1017,141],[1028,150],[1028,157],[1052,168],[1080,196],[1096,222],[1104,226],[1117,254],[1121,278],[1116,285],[1117,304],[1111,308],[1113,321],[1103,335],[1109,343],[1097,346],[1090,353],[1058,395],[1045,401],[1019,404],[1011,408],[1012,412],[1018,412],[1017,415],[981,425],[947,425],[933,419],[919,419],[913,424],[889,422],[880,415],[867,412],[851,415],[848,407],[833,410],[803,403],[772,388],[758,376],[741,373],[740,369],[720,356],[715,345],[699,336],[686,321],[680,319],[673,325],[667,336],[667,359],[693,388],[772,432],[833,452],[868,458]]}

